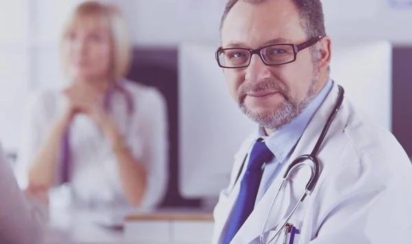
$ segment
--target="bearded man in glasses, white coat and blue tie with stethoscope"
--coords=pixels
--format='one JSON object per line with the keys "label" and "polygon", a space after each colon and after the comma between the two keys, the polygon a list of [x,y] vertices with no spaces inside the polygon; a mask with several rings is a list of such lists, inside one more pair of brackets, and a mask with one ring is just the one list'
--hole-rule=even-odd
{"label": "bearded man in glasses, white coat and blue tie with stethoscope", "polygon": [[[412,243],[411,162],[330,79],[321,1],[229,0],[220,32],[216,60],[231,96],[259,130],[235,156],[214,210],[213,243]],[[275,199],[279,185],[328,122],[315,155],[317,184],[288,219],[310,168],[292,171]]]}

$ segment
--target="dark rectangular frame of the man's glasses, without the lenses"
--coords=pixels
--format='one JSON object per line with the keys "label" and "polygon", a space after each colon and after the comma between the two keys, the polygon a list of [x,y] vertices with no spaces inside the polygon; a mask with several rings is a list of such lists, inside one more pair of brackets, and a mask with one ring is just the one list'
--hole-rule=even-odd
{"label": "dark rectangular frame of the man's glasses, without the lenses", "polygon": [[[304,49],[307,49],[308,47],[311,47],[312,45],[315,45],[317,42],[319,42],[319,40],[321,40],[321,38],[323,38],[323,36],[317,36],[317,37],[314,37],[314,38],[311,38],[311,39],[307,40],[306,42],[302,42],[299,45],[290,44],[290,43],[279,43],[279,44],[267,45],[267,46],[261,47],[260,49],[247,49],[247,48],[243,48],[243,47],[229,47],[229,48],[219,47],[218,50],[215,53],[215,56],[216,56],[215,58],[216,58],[216,61],[218,62],[218,65],[220,66],[220,68],[224,68],[224,69],[242,69],[242,68],[245,68],[245,67],[249,66],[249,64],[251,64],[253,54],[257,54],[260,57],[260,59],[262,60],[262,62],[264,64],[268,65],[268,66],[277,66],[277,65],[283,65],[283,64],[290,64],[291,62],[296,61],[297,53],[299,53],[299,51],[302,51]],[[293,47],[293,60],[288,61],[288,62],[284,62],[284,63],[281,63],[281,64],[268,64],[264,60],[264,57],[262,55],[262,50],[267,48],[267,47],[280,46],[280,45]],[[233,50],[233,49],[242,49],[242,50],[249,51],[249,53],[251,53],[251,56],[249,57],[249,62],[246,65],[239,66],[239,67],[228,67],[228,66],[223,66],[222,64],[220,64],[219,52],[220,51],[226,51],[226,50]]]}

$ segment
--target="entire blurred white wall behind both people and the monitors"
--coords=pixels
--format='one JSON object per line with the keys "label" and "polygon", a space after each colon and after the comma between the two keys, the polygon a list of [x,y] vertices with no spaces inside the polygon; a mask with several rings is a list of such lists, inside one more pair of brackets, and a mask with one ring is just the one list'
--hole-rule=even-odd
{"label": "entire blurred white wall behind both people and the monitors", "polygon": [[[0,0],[0,141],[15,149],[27,92],[62,85],[57,40],[70,10],[83,0]],[[136,45],[219,42],[225,0],[102,0],[118,3]],[[335,39],[389,39],[412,43],[412,5],[391,1],[323,0],[327,31]],[[356,7],[354,7],[356,6]]]}

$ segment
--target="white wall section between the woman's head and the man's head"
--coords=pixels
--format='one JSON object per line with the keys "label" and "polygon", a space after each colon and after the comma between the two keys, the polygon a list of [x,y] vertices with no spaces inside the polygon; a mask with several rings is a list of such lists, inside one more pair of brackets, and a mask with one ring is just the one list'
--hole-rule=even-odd
{"label": "white wall section between the woman's head and the man's head", "polygon": [[139,45],[218,40],[224,0],[117,0]]}

